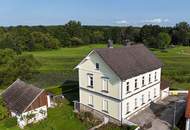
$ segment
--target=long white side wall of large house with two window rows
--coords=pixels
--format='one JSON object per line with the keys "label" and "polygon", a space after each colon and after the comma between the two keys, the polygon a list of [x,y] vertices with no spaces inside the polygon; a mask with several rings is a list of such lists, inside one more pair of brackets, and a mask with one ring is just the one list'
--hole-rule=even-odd
{"label": "long white side wall of large house with two window rows", "polygon": [[[154,75],[157,73],[157,80],[155,80]],[[151,83],[149,83],[149,74],[151,74]],[[142,77],[144,76],[145,85],[142,85]],[[135,79],[137,79],[137,88],[135,90]],[[122,117],[123,119],[128,118],[131,114],[141,110],[141,108],[150,104],[151,101],[158,100],[160,98],[160,79],[161,79],[161,69],[157,69],[145,74],[141,74],[137,77],[127,79],[122,85]],[[127,93],[126,84],[129,82],[130,93]],[[156,97],[154,97],[154,88],[156,89]],[[150,91],[150,101],[148,101],[148,92]],[[142,105],[142,95],[144,95],[145,104]],[[137,106],[135,109],[135,98],[137,98]],[[126,104],[129,103],[130,113],[126,114]]]}

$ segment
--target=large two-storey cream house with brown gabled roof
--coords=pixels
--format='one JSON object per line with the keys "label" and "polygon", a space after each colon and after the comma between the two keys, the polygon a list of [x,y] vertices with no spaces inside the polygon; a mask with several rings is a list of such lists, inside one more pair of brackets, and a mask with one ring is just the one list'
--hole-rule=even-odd
{"label": "large two-storey cream house with brown gabled roof", "polygon": [[94,49],[76,67],[80,109],[122,123],[160,99],[161,67],[143,44]]}

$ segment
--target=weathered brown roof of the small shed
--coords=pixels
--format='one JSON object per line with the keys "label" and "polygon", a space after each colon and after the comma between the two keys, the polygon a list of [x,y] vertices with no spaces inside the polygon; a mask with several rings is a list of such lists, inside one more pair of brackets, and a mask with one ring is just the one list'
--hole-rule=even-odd
{"label": "weathered brown roof of the small shed", "polygon": [[2,96],[11,111],[22,113],[43,91],[17,79],[3,92]]}

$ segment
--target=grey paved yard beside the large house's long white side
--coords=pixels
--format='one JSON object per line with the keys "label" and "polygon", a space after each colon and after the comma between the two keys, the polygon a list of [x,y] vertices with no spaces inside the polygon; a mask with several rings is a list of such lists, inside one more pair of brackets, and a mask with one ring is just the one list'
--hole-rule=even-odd
{"label": "grey paved yard beside the large house's long white side", "polygon": [[[173,124],[175,101],[182,101],[186,96],[169,96],[163,101],[152,103],[129,121],[138,124],[144,130],[170,130]],[[176,103],[176,122],[184,114],[185,102]]]}

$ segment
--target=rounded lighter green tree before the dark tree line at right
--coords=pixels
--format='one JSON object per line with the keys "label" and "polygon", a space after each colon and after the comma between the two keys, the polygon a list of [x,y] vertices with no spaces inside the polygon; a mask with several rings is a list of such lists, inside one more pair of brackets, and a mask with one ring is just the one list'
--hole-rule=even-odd
{"label": "rounded lighter green tree before the dark tree line at right", "polygon": [[165,49],[169,46],[171,42],[171,37],[168,33],[165,33],[165,32],[161,32],[158,34],[158,37],[157,37],[157,46],[160,48],[160,49]]}

